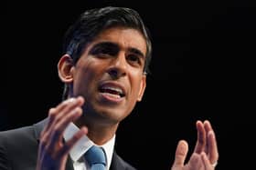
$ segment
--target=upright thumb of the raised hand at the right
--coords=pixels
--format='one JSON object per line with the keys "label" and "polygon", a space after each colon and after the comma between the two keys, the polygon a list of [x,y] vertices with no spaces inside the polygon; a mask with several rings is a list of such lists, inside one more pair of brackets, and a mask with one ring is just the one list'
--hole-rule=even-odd
{"label": "upright thumb of the raised hand at the right", "polygon": [[176,146],[175,162],[172,166],[172,170],[180,169],[184,166],[186,156],[188,152],[188,145],[185,140],[180,140]]}

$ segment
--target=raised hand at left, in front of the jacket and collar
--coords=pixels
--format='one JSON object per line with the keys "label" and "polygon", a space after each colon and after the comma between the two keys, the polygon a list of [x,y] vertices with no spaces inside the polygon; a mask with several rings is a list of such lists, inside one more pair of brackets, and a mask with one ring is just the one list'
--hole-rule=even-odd
{"label": "raised hand at left, in front of the jacket and collar", "polygon": [[86,127],[82,127],[69,141],[63,141],[64,130],[70,122],[80,117],[83,104],[82,97],[69,98],[49,110],[48,125],[40,136],[37,170],[65,170],[69,150],[88,132]]}

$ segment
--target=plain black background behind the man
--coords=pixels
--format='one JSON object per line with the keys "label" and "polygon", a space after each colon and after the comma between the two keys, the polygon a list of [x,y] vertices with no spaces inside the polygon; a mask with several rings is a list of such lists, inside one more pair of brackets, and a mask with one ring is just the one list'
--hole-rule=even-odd
{"label": "plain black background behind the man", "polygon": [[[168,169],[180,139],[197,139],[208,119],[217,169],[254,165],[256,6],[253,1],[9,2],[1,6],[0,130],[31,125],[61,100],[62,36],[85,9],[137,10],[153,38],[144,101],[117,132],[117,152],[138,169]],[[1,140],[1,139],[0,139]]]}

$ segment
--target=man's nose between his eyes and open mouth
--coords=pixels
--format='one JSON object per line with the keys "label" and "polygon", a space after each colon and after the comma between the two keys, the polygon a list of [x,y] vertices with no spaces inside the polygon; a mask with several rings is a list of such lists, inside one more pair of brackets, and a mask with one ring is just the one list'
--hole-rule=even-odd
{"label": "man's nose between his eyes and open mouth", "polygon": [[124,54],[113,58],[108,74],[111,75],[113,79],[127,74],[127,61]]}

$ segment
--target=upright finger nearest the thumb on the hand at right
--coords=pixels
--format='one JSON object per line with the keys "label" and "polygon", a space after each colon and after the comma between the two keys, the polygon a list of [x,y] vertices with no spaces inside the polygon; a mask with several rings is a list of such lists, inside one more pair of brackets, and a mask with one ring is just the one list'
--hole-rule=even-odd
{"label": "upright finger nearest the thumb on the hand at right", "polygon": [[197,121],[197,144],[195,146],[194,152],[200,154],[205,150],[207,144],[207,135],[204,125],[201,121]]}

